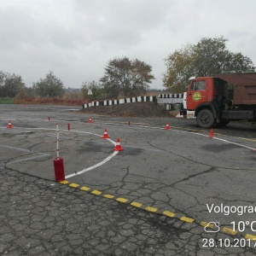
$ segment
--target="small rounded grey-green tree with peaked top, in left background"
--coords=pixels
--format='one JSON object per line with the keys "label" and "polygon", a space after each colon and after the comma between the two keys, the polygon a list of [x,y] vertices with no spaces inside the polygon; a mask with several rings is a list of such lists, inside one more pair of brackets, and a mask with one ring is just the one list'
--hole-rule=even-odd
{"label": "small rounded grey-green tree with peaked top, in left background", "polygon": [[45,79],[33,83],[33,89],[38,96],[50,98],[61,97],[65,92],[63,83],[52,71],[46,74]]}

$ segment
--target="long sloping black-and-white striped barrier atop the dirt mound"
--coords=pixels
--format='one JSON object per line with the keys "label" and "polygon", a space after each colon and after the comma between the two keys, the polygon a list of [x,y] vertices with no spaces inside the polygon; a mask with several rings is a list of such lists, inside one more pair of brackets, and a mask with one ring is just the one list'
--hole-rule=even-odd
{"label": "long sloping black-and-white striped barrier atop the dirt mound", "polygon": [[125,103],[133,103],[133,102],[156,102],[156,96],[137,96],[119,100],[106,100],[100,102],[90,102],[84,103],[83,108],[97,107],[97,106],[111,106]]}

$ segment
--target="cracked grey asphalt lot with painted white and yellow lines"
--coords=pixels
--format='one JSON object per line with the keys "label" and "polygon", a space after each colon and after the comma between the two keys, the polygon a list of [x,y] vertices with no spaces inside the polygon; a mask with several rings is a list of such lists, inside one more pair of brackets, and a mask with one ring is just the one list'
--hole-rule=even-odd
{"label": "cracked grey asphalt lot with painted white and yellow lines", "polygon": [[[0,253],[255,254],[255,126],[210,138],[195,120],[78,109],[0,105]],[[124,151],[113,151],[117,138]]]}

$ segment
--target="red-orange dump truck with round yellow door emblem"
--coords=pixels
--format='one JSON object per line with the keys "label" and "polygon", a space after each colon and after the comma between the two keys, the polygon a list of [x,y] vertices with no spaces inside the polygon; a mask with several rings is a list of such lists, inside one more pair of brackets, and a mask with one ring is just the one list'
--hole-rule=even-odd
{"label": "red-orange dump truck with round yellow door emblem", "polygon": [[181,114],[202,128],[230,121],[256,121],[256,73],[222,73],[191,77]]}

